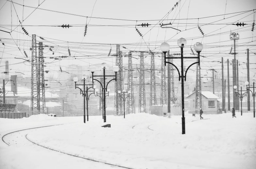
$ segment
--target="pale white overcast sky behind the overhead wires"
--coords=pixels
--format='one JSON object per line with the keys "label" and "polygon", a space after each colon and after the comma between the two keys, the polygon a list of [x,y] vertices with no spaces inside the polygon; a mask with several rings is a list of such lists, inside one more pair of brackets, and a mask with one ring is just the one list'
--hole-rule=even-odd
{"label": "pale white overcast sky behind the overhead wires", "polygon": [[[13,2],[23,4],[25,6],[38,6],[38,1],[32,0],[14,0]],[[42,3],[43,2],[43,3]],[[96,3],[95,3],[96,2]],[[193,48],[195,42],[202,42],[204,49],[201,55],[206,56],[206,58],[201,58],[201,74],[207,74],[211,76],[210,72],[207,71],[211,68],[221,72],[221,64],[218,62],[211,61],[221,61],[221,57],[224,60],[230,59],[232,61],[233,55],[228,54],[231,49],[233,41],[229,39],[229,31],[238,32],[240,34],[240,40],[238,40],[238,50],[237,59],[240,61],[239,66],[239,76],[246,76],[246,64],[242,62],[247,62],[246,49],[249,48],[250,52],[250,63],[256,63],[255,54],[255,33],[251,31],[252,23],[254,21],[255,13],[253,11],[242,13],[229,14],[234,12],[248,11],[256,9],[256,1],[254,0],[215,0],[215,1],[205,1],[205,0],[181,0],[177,7],[170,12],[168,17],[165,19],[185,19],[185,20],[165,20],[163,23],[172,22],[173,28],[181,30],[181,32],[174,29],[159,28],[159,21],[162,19],[176,4],[177,1],[117,1],[117,0],[97,0],[97,1],[82,1],[82,0],[39,0],[42,3],[39,8],[54,10],[59,12],[66,12],[70,14],[76,14],[81,16],[99,17],[99,18],[112,18],[112,19],[87,19],[87,33],[84,36],[84,27],[86,24],[86,17],[67,15],[63,13],[56,13],[46,10],[28,8],[14,4],[11,2],[6,2],[6,0],[0,1],[0,30],[10,32],[9,29],[16,28],[15,25],[19,24],[16,12],[20,20],[25,19],[22,23],[28,35],[23,34],[21,26],[9,33],[0,31],[0,39],[5,43],[5,46],[0,44],[0,72],[5,71],[4,65],[5,61],[8,60],[9,64],[19,63],[24,60],[14,59],[23,58],[23,50],[27,53],[28,57],[31,59],[31,52],[29,48],[31,47],[31,37],[32,34],[44,37],[45,40],[39,39],[37,41],[42,41],[44,45],[54,46],[52,52],[48,47],[44,48],[45,62],[53,62],[45,67],[45,70],[54,70],[59,72],[59,66],[62,66],[62,70],[66,70],[65,66],[70,64],[79,64],[84,66],[89,66],[92,64],[107,62],[110,65],[115,64],[115,58],[109,56],[110,48],[112,48],[111,55],[116,52],[116,44],[120,44],[120,49],[123,54],[128,54],[128,50],[153,50],[159,52],[159,45],[167,41],[170,46],[170,53],[180,53],[180,48],[177,46],[177,39],[183,37],[187,39],[187,47],[184,49],[185,56],[190,55],[190,46]],[[95,5],[95,6],[94,6]],[[15,12],[16,10],[16,12]],[[35,10],[33,12],[33,10]],[[12,12],[11,12],[12,11]],[[93,12],[92,12],[93,11]],[[254,10],[256,11],[256,10]],[[33,12],[31,14],[31,12]],[[31,15],[30,15],[31,14]],[[12,16],[11,16],[12,15]],[[30,15],[30,16],[29,16]],[[216,16],[205,19],[191,19],[191,18],[203,18],[209,16]],[[237,15],[237,16],[235,16]],[[28,17],[29,16],[29,17]],[[230,18],[229,18],[230,17]],[[187,18],[189,18],[187,20]],[[128,19],[132,21],[116,20],[116,19]],[[148,20],[148,21],[138,21],[137,24],[149,23],[149,27],[136,26],[138,30],[142,33],[143,39],[136,32],[135,24],[136,20]],[[208,23],[237,23],[244,22],[249,25],[244,27],[237,27],[236,25],[200,25],[202,31],[204,32],[204,37],[199,31],[197,24],[208,24]],[[187,24],[186,24],[187,23]],[[50,27],[44,25],[76,25],[79,27],[61,28],[61,27]],[[157,25],[156,25],[157,24]],[[33,26],[32,26],[33,25]],[[35,26],[37,25],[37,26]],[[43,25],[43,26],[39,26]],[[128,26],[93,26],[93,25],[128,25]],[[153,27],[154,26],[154,27]],[[194,29],[190,29],[194,28]],[[187,30],[186,30],[187,29]],[[188,30],[190,29],[190,30]],[[15,32],[17,31],[17,32]],[[178,33],[177,33],[178,32]],[[226,33],[223,33],[226,32]],[[254,31],[255,32],[255,31]],[[219,33],[222,33],[219,35]],[[215,36],[208,36],[217,34]],[[12,40],[12,38],[14,40]],[[18,40],[16,40],[18,39]],[[17,48],[15,43],[20,47],[21,51]],[[253,41],[253,42],[251,42]],[[81,42],[83,44],[81,44]],[[249,43],[250,42],[250,43]],[[91,43],[91,44],[88,44]],[[95,44],[96,43],[96,44]],[[110,45],[112,44],[112,45]],[[228,45],[228,46],[227,46]],[[243,46],[241,46],[243,45]],[[126,47],[127,49],[123,48]],[[149,46],[149,49],[148,49]],[[220,47],[221,46],[221,47]],[[5,47],[5,48],[4,48]],[[67,58],[59,60],[49,59],[49,57],[58,56],[68,56],[68,48],[71,51],[71,56],[74,58]],[[234,48],[234,47],[233,47]],[[4,51],[4,53],[3,53]],[[233,52],[233,51],[232,51]],[[138,53],[133,53],[135,58],[138,58]],[[144,54],[146,56],[146,54]],[[190,61],[193,61],[192,59]],[[185,62],[185,66],[188,67],[190,63],[189,60]],[[128,63],[127,58],[123,58],[124,64]],[[145,64],[150,64],[150,56],[144,59]],[[160,58],[155,59],[156,68],[160,67]],[[139,64],[139,59],[133,59],[134,64]],[[175,60],[176,65],[180,65],[180,60]],[[231,69],[232,67],[230,67]],[[255,64],[250,64],[250,76],[253,78],[256,73]],[[30,63],[20,63],[9,66],[10,74],[15,74],[15,72],[22,72],[27,76],[31,76],[31,66]],[[196,66],[191,67],[195,70]],[[226,63],[225,63],[225,69]],[[206,72],[207,71],[207,72]],[[190,75],[194,75],[194,72],[190,72]],[[20,73],[18,73],[20,74]],[[84,74],[84,73],[81,73]],[[46,74],[47,76],[47,74]],[[225,75],[227,76],[226,70]]]}

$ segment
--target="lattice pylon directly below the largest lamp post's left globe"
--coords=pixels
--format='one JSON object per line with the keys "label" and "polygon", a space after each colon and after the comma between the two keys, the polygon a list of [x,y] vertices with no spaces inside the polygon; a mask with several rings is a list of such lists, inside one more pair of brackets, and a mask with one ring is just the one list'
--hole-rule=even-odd
{"label": "lattice pylon directly below the largest lamp post's left globe", "polygon": [[161,57],[161,104],[167,104],[166,99],[166,81],[165,81],[164,54]]}

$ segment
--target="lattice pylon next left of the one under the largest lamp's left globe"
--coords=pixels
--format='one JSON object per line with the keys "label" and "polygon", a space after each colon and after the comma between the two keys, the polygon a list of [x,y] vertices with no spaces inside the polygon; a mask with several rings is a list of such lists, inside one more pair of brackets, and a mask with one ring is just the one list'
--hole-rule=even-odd
{"label": "lattice pylon next left of the one under the largest lamp's left globe", "polygon": [[156,95],[156,76],[155,76],[155,56],[151,53],[151,67],[150,67],[150,102],[149,105],[157,105]]}

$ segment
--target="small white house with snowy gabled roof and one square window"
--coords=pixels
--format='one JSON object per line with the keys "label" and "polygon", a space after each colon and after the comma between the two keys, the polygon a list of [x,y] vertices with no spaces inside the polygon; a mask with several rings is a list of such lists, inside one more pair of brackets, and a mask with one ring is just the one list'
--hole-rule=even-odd
{"label": "small white house with snowy gabled roof and one square window", "polygon": [[[218,114],[218,107],[219,107],[219,97],[213,94],[210,91],[201,91],[202,95],[202,110],[204,114]],[[186,97],[188,100],[188,113],[194,114],[195,113],[195,99],[196,93],[193,92],[192,94]],[[199,109],[199,108],[198,108]],[[199,111],[197,112],[199,113]]]}

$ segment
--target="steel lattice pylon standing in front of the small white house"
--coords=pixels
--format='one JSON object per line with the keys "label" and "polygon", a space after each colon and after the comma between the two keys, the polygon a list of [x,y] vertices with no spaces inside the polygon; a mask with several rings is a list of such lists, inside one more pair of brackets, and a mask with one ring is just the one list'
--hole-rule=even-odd
{"label": "steel lattice pylon standing in front of the small white house", "polygon": [[[198,61],[198,59],[197,59]],[[202,109],[202,95],[201,95],[201,68],[197,64],[196,66],[196,100],[195,100],[195,112],[197,114],[198,109]]]}

